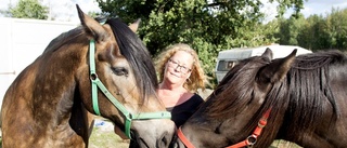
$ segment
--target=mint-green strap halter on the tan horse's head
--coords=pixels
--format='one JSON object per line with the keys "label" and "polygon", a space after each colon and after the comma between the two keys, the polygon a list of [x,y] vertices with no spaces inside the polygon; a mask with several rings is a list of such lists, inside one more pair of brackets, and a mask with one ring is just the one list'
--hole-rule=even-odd
{"label": "mint-green strap halter on the tan horse's head", "polygon": [[105,88],[105,85],[100,81],[95,70],[95,41],[90,40],[89,43],[89,66],[90,66],[90,80],[91,80],[91,92],[92,92],[92,102],[93,109],[95,115],[101,116],[98,105],[98,88],[100,91],[108,98],[108,100],[124,115],[125,117],[125,134],[130,136],[130,125],[131,120],[147,120],[147,119],[170,119],[171,113],[168,111],[158,111],[158,112],[141,112],[138,115],[130,113]]}

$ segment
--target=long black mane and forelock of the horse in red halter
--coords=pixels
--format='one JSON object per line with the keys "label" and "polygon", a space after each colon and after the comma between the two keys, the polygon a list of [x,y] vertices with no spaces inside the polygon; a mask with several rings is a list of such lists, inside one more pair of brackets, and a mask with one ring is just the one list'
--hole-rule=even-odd
{"label": "long black mane and forelock of the horse in red halter", "polygon": [[[249,105],[255,95],[254,79],[259,69],[267,64],[258,58],[245,59],[226,75],[214,94],[209,96],[214,99],[207,99],[209,106],[205,113],[209,118],[222,121],[230,116],[236,116],[236,112],[244,110]],[[256,62],[245,65],[247,60],[253,59]],[[286,79],[274,83],[261,107],[242,131],[252,133],[269,108],[271,108],[267,125],[269,129],[266,127],[259,137],[261,139],[258,139],[261,142],[261,144],[258,143],[260,147],[271,144],[282,126],[286,127],[285,131],[290,131],[287,134],[294,134],[292,137],[298,137],[295,134],[303,133],[303,131],[314,132],[320,126],[320,121],[327,120],[330,125],[333,125],[340,112],[330,86],[330,72],[333,68],[335,68],[334,70],[344,70],[332,65],[343,65],[346,62],[347,57],[338,51],[297,56]],[[240,75],[239,71],[244,70],[252,72]],[[326,119],[327,110],[332,111],[330,119]],[[323,116],[324,113],[325,116]],[[283,122],[284,120],[286,122]],[[299,138],[304,138],[304,136],[300,135]]]}

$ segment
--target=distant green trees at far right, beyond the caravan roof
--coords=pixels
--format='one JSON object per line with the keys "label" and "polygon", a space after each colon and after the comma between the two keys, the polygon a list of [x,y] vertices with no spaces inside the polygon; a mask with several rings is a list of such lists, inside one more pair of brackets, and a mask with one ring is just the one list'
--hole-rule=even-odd
{"label": "distant green trees at far right, beyond the caravan roof", "polygon": [[330,14],[307,18],[279,19],[274,37],[280,44],[299,45],[312,51],[337,49],[347,51],[347,9],[332,9]]}

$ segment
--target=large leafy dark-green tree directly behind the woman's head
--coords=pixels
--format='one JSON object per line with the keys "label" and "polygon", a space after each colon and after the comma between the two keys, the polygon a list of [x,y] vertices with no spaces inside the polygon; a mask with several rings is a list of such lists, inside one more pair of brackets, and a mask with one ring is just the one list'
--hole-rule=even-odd
{"label": "large leafy dark-green tree directly behind the woman's head", "polygon": [[[282,0],[270,0],[270,2]],[[304,1],[304,0],[299,0]],[[205,72],[214,77],[219,51],[272,43],[271,26],[261,24],[260,0],[97,0],[101,10],[126,23],[142,19],[139,31],[150,52],[156,55],[167,45],[184,42],[198,53]],[[286,0],[279,10],[303,8]],[[281,14],[280,14],[281,16]],[[270,28],[268,28],[270,27]],[[272,29],[272,28],[271,28]],[[269,38],[271,36],[271,38]]]}

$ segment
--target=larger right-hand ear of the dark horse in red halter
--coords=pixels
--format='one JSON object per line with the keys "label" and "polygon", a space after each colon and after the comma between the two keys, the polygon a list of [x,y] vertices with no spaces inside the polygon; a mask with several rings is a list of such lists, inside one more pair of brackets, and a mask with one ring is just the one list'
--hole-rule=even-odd
{"label": "larger right-hand ear of the dark horse in red halter", "polygon": [[297,50],[295,49],[286,57],[272,60],[269,65],[260,70],[258,80],[265,83],[275,83],[282,81],[295,60],[296,52]]}

